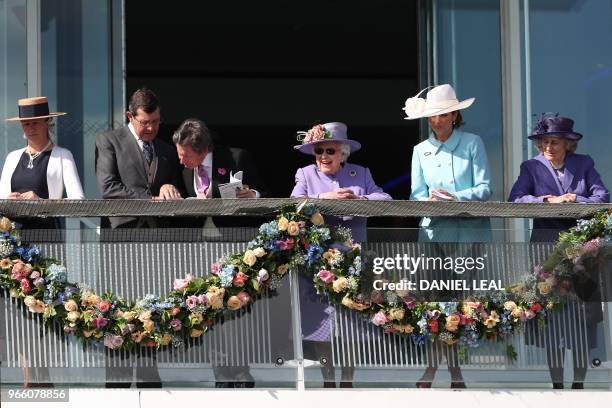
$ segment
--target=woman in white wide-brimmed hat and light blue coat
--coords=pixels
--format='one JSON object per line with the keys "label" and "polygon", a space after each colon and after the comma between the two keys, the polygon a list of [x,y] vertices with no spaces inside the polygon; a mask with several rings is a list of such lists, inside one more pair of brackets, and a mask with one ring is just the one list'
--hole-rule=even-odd
{"label": "woman in white wide-brimmed hat and light blue coat", "polygon": [[[426,88],[427,89],[427,88]],[[455,90],[448,84],[439,85],[406,101],[406,119],[428,118],[432,133],[414,148],[412,155],[411,200],[420,201],[486,201],[491,196],[490,170],[482,139],[459,128],[464,124],[461,109],[470,107],[475,98],[459,101]],[[421,242],[486,242],[491,239],[488,218],[437,218],[424,217],[420,223]],[[464,256],[453,245],[428,247],[435,255],[443,257]],[[475,248],[471,248],[470,251]],[[448,279],[448,274],[438,276],[431,271],[430,279]],[[442,300],[456,300],[454,292],[427,293],[428,300],[437,296]],[[449,343],[450,344],[450,343]],[[443,348],[441,351],[440,348]],[[417,383],[419,388],[431,387],[438,368],[441,352],[448,360],[451,388],[465,388],[459,367],[456,345],[429,344],[429,366]]]}

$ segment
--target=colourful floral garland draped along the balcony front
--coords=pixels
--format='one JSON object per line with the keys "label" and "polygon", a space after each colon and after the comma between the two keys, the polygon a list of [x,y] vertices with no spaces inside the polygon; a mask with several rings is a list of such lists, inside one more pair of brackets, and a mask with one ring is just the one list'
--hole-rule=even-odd
{"label": "colourful floral garland draped along the balcony front", "polygon": [[[330,303],[355,310],[386,333],[458,344],[461,350],[483,340],[499,340],[525,322],[544,322],[549,312],[574,296],[573,286],[612,237],[612,212],[598,212],[562,233],[553,253],[534,272],[506,292],[460,302],[419,301],[410,293],[362,293],[362,254],[346,228],[324,225],[307,203],[288,205],[276,220],[263,224],[247,249],[220,259],[211,275],[174,281],[166,297],[147,295],[134,303],[97,295],[67,281],[66,268],[22,243],[14,224],[0,219],[0,287],[23,299],[30,312],[60,322],[64,332],[111,349],[181,346],[200,337],[227,311],[253,303],[266,288],[275,289],[288,270],[312,276]],[[507,349],[514,358],[514,350]]]}

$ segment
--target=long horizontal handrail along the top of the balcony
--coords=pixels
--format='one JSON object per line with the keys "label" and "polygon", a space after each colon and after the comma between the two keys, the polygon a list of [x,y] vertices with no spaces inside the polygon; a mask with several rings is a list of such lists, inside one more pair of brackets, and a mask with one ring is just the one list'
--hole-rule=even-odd
{"label": "long horizontal handrail along the top of the balcony", "polygon": [[[271,216],[304,199],[0,200],[6,217]],[[584,218],[612,204],[309,199],[327,215],[359,217]]]}

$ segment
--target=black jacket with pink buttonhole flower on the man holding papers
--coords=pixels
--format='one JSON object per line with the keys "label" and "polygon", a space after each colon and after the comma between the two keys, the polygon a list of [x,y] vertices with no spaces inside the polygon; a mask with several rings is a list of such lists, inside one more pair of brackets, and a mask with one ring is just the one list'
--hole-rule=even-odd
{"label": "black jacket with pink buttonhole flower on the man holding papers", "polygon": [[[249,188],[259,191],[261,197],[265,197],[265,185],[255,167],[250,154],[244,150],[235,147],[215,146],[213,151],[213,167],[211,178],[212,197],[221,198],[219,193],[219,184],[229,183],[230,172],[236,173],[243,171],[243,184],[247,184]],[[183,197],[196,197],[197,193],[193,187],[193,169],[183,168],[182,183],[180,191]],[[187,227],[203,225],[205,218],[189,218],[184,219],[184,224]],[[214,217],[213,221],[217,227],[242,227],[259,226],[262,222],[260,218],[253,217]]]}

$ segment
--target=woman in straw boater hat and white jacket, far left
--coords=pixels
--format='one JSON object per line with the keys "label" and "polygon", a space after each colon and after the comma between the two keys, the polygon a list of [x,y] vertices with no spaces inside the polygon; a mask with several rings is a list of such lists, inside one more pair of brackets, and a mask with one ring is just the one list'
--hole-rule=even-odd
{"label": "woman in straw boater hat and white jacket, far left", "polygon": [[56,146],[49,136],[51,120],[65,115],[49,112],[46,97],[20,99],[19,116],[9,122],[20,122],[27,146],[6,157],[0,178],[0,198],[16,200],[83,199],[74,158],[69,150]]}

